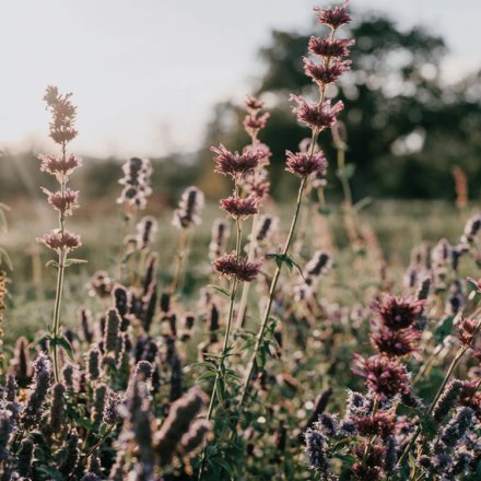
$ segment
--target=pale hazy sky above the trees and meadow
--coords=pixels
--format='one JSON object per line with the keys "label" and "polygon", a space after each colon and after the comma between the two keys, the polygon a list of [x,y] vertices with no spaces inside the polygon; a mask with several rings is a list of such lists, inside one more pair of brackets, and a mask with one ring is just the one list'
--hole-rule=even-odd
{"label": "pale hazy sky above the trees and meadow", "polygon": [[[215,102],[242,101],[272,28],[312,25],[316,0],[0,0],[0,148],[45,149],[47,84],[79,106],[74,149],[159,156],[195,150]],[[351,0],[426,25],[447,79],[481,68],[481,0]],[[49,145],[47,143],[47,145]]]}

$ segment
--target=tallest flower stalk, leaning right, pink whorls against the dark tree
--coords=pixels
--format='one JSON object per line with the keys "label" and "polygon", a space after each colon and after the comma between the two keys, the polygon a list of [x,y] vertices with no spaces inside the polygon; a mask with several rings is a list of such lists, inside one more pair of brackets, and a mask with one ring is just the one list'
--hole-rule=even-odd
{"label": "tallest flower stalk, leaning right, pink whorls against the dark tree", "polygon": [[319,174],[324,175],[326,171],[327,162],[324,153],[316,148],[318,137],[322,131],[332,128],[338,114],[343,109],[342,102],[339,101],[335,105],[331,105],[331,101],[326,99],[326,91],[329,84],[333,83],[343,72],[350,69],[350,60],[343,60],[343,58],[349,55],[349,47],[354,44],[354,40],[347,38],[336,39],[338,28],[348,24],[351,20],[347,12],[348,3],[349,0],[345,0],[342,7],[328,10],[315,9],[318,13],[317,19],[319,23],[330,28],[330,35],[328,37],[310,37],[309,39],[309,54],[320,61],[315,62],[308,58],[304,59],[305,73],[318,85],[319,101],[316,104],[310,104],[302,96],[291,96],[291,98],[297,103],[297,106],[294,108],[294,112],[297,114],[297,119],[312,130],[310,145],[307,152],[297,152],[295,154],[289,151],[286,152],[286,171],[301,177],[301,184],[291,227],[282,251],[277,256],[278,267],[270,283],[269,298],[256,337],[254,352],[247,366],[242,389],[241,409],[249,395],[250,383],[257,367],[257,359],[262,349],[265,335],[269,325],[270,312],[275,296],[282,263],[288,261],[288,255],[294,238],[308,178]]}

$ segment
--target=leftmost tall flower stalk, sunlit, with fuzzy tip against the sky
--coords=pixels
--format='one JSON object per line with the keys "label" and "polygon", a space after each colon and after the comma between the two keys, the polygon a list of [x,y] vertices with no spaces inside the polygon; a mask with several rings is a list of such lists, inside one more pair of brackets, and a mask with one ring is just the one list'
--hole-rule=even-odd
{"label": "leftmost tall flower stalk, sunlit, with fuzzy tip against the sky", "polygon": [[59,190],[50,192],[43,188],[48,203],[58,212],[58,228],[45,234],[37,242],[44,244],[57,253],[57,261],[52,262],[57,268],[57,288],[50,331],[50,347],[54,357],[54,376],[56,383],[60,379],[60,366],[58,360],[58,347],[68,347],[68,342],[60,338],[60,308],[63,291],[64,270],[68,266],[78,262],[78,259],[68,259],[69,253],[81,246],[80,236],[66,228],[66,219],[72,215],[73,209],[79,207],[79,192],[70,189],[67,185],[70,174],[81,165],[81,160],[68,153],[68,144],[77,137],[74,129],[77,107],[70,102],[72,94],[60,94],[56,86],[48,86],[44,96],[47,109],[51,114],[49,134],[54,142],[59,145],[59,154],[40,155],[40,171],[55,176],[59,184]]}

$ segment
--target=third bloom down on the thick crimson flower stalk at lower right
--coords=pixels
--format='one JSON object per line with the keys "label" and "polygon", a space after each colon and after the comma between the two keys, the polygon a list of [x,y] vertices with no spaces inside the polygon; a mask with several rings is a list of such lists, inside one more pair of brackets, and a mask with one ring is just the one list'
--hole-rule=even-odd
{"label": "third bloom down on the thick crimson flower stalk at lower right", "polygon": [[410,391],[410,376],[398,361],[382,355],[364,359],[355,354],[352,372],[364,377],[367,387],[382,401]]}

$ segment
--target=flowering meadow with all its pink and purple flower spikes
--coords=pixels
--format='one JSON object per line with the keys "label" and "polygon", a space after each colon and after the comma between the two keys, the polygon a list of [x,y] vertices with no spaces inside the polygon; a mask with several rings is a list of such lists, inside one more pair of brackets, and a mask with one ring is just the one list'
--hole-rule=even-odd
{"label": "flowering meadow with all its pink and purple flower spikes", "polygon": [[[93,262],[74,228],[74,95],[47,87],[54,148],[38,167],[58,223],[36,241],[55,286],[28,315],[47,316],[46,329],[17,315],[11,329],[16,256],[0,245],[1,480],[481,479],[481,213],[437,218],[449,241],[413,244],[402,269],[386,261],[366,201],[353,201],[344,104],[331,96],[355,69],[348,7],[315,9],[304,72],[317,97],[291,96],[306,139],[285,153],[298,193],[282,214],[269,112],[247,96],[248,144],[211,148],[231,193],[212,208],[186,186],[161,220],[153,167],[131,157],[112,174],[118,225],[99,230],[121,235]],[[10,228],[14,212],[0,212]],[[172,249],[156,243],[166,232]]]}

